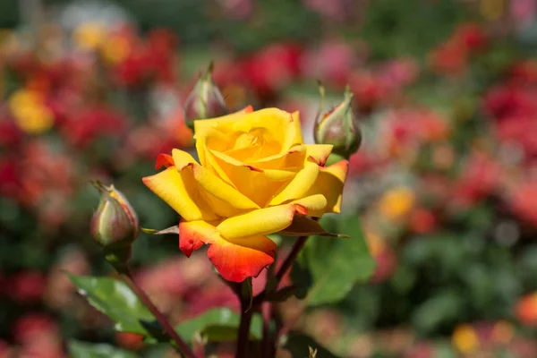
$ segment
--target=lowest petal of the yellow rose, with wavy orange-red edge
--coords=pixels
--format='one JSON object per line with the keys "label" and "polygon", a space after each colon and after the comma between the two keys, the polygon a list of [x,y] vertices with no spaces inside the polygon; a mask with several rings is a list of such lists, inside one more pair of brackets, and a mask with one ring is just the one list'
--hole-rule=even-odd
{"label": "lowest petal of the yellow rose, with wavy orange-red edge", "polygon": [[277,246],[267,236],[226,240],[215,226],[203,221],[183,222],[179,229],[181,250],[190,254],[202,243],[209,244],[209,260],[228,281],[242,282],[246,277],[257,277],[274,262]]}

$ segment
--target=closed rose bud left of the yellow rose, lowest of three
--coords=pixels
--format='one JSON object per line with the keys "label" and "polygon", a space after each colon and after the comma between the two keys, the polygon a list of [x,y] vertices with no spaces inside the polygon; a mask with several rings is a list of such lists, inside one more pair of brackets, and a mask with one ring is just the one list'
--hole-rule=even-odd
{"label": "closed rose bud left of the yellow rose, lowest of three", "polygon": [[107,261],[121,272],[131,259],[131,245],[138,236],[138,216],[114,185],[98,180],[93,184],[101,198],[91,218],[91,235],[103,247]]}

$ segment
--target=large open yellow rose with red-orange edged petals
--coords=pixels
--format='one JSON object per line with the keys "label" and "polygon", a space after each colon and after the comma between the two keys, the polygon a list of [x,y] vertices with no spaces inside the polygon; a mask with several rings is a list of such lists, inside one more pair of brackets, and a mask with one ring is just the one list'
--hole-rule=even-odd
{"label": "large open yellow rose with red-orange edged petals", "polygon": [[188,257],[209,244],[226,280],[257,277],[277,249],[266,234],[327,234],[306,216],[339,212],[348,161],[324,166],[331,145],[303,144],[298,112],[277,108],[194,122],[198,163],[179,149],[160,155],[149,189],[181,217]]}

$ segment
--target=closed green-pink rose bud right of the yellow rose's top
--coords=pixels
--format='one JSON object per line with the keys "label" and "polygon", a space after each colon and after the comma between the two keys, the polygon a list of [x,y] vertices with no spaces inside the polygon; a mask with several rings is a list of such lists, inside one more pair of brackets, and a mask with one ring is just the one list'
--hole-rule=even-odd
{"label": "closed green-pink rose bud right of the yellow rose's top", "polygon": [[362,132],[356,123],[351,99],[353,94],[345,88],[345,98],[334,109],[324,112],[325,90],[319,83],[320,108],[315,120],[314,136],[317,144],[332,144],[332,153],[349,158],[362,143]]}

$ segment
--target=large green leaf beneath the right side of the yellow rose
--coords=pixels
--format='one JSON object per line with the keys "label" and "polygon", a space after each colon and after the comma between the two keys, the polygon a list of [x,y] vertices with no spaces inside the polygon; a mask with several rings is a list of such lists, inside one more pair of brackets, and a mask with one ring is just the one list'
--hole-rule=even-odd
{"label": "large green leaf beneath the right side of the yellow rose", "polygon": [[312,236],[306,242],[292,276],[295,283],[310,286],[306,301],[311,306],[341,301],[354,284],[371,277],[375,268],[358,217],[323,217],[320,224],[327,231],[351,237]]}

